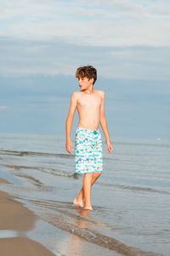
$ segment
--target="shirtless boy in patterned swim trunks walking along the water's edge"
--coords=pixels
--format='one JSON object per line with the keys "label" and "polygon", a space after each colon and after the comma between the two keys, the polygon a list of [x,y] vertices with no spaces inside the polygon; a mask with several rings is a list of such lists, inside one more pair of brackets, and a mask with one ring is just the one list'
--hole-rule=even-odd
{"label": "shirtless boy in patterned swim trunks walking along the water's edge", "polygon": [[[76,173],[84,174],[82,190],[74,200],[77,207],[93,210],[91,205],[91,188],[103,171],[102,140],[99,133],[99,124],[105,134],[108,153],[113,147],[105,119],[105,92],[94,89],[97,80],[97,71],[91,66],[82,66],[77,69],[76,77],[81,88],[71,95],[71,105],[66,119],[66,151],[71,154],[71,126],[77,109],[79,122],[75,135],[75,162]],[[83,202],[84,200],[84,202]]]}

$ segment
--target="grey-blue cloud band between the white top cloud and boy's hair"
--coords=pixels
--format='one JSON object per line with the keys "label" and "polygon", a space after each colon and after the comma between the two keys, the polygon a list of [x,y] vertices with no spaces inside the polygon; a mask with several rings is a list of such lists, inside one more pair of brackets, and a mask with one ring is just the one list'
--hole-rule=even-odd
{"label": "grey-blue cloud band between the white top cloud and boy's hair", "polygon": [[77,46],[64,41],[0,40],[2,77],[30,74],[74,76],[80,65],[94,65],[99,76],[170,80],[170,48]]}

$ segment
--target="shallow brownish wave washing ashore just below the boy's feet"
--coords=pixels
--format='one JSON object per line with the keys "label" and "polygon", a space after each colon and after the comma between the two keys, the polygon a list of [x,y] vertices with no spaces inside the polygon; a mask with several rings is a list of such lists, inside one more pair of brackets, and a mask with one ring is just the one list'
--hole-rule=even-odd
{"label": "shallow brownish wave washing ashore just below the boy's feet", "polygon": [[[83,215],[81,209],[75,213],[75,208],[70,202],[55,202],[45,200],[29,200],[34,211],[41,219],[49,224],[56,226],[60,230],[65,230],[71,234],[78,236],[88,242],[106,247],[110,250],[122,253],[127,256],[160,256],[161,254],[145,252],[138,247],[129,246],[123,242],[116,240],[111,236],[105,236],[97,230],[93,230],[92,225],[101,225],[104,228],[107,226],[95,219]],[[61,209],[62,208],[62,209]],[[95,209],[97,210],[97,208]],[[89,224],[89,225],[88,225]]]}

